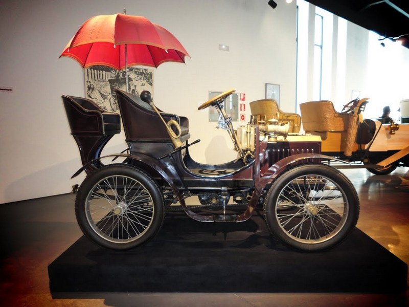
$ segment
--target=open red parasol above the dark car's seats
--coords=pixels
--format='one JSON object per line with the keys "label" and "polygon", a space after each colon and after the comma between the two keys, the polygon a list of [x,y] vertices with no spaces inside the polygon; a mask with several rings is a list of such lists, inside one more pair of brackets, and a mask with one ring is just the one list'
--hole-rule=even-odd
{"label": "open red parasol above the dark car's seats", "polygon": [[168,61],[184,63],[189,54],[172,33],[147,18],[115,14],[85,21],[61,56],[74,58],[83,68],[106,65],[122,70],[134,65],[158,67]]}

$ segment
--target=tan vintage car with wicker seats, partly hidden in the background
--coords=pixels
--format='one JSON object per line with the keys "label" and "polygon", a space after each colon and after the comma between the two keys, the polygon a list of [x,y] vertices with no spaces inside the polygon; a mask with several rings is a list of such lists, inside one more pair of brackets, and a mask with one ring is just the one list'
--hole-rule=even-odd
{"label": "tan vintage car with wicker seats, partly hidden in the background", "polygon": [[363,119],[368,98],[354,99],[341,112],[331,101],[300,104],[301,116],[283,115],[276,101],[264,99],[250,103],[252,114],[264,120],[290,122],[296,133],[300,125],[305,135],[319,136],[324,155],[349,162],[333,164],[337,168],[365,167],[374,174],[388,174],[398,166],[409,166],[409,124],[382,124],[376,119]]}

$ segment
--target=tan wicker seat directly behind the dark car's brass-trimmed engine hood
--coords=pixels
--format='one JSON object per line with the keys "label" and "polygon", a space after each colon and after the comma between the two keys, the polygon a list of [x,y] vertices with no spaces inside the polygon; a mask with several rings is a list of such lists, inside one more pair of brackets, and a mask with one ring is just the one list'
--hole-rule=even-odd
{"label": "tan wicker seat directly behind the dark car's brass-trimmed engine hood", "polygon": [[268,121],[277,119],[279,122],[290,124],[289,133],[299,133],[301,126],[301,116],[297,113],[285,113],[280,110],[277,101],[273,99],[261,99],[250,102],[252,115],[258,119]]}

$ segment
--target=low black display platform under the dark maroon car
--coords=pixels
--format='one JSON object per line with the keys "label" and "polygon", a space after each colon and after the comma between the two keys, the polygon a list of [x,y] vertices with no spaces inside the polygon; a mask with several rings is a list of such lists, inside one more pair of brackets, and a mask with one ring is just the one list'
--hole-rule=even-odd
{"label": "low black display platform under the dark maroon car", "polygon": [[[355,229],[327,252],[295,252],[260,215],[243,223],[165,218],[147,245],[101,249],[81,237],[49,265],[53,297],[90,292],[366,292],[406,290],[407,265]],[[70,294],[70,295],[67,295]]]}

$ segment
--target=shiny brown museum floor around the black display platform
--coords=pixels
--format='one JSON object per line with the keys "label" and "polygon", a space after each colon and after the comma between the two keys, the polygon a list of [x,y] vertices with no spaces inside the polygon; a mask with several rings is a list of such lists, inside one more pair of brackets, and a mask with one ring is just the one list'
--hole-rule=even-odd
{"label": "shiny brown museum floor around the black display platform", "polygon": [[[362,232],[409,263],[409,171],[388,176],[365,169],[344,171],[357,189]],[[48,265],[82,233],[75,221],[75,195],[0,205],[2,306],[405,306],[408,291],[381,293],[100,293],[53,299]],[[243,278],[245,278],[243,276]],[[215,281],[217,282],[217,281]],[[330,280],[328,282],[331,282]],[[94,296],[95,297],[95,296]]]}

